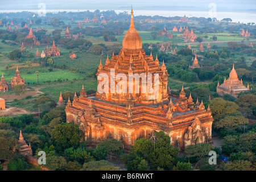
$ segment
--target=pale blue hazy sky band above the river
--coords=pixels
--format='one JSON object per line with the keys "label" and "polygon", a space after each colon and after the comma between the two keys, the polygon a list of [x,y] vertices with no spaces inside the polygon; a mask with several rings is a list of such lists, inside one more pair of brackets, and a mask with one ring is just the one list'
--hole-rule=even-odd
{"label": "pale blue hazy sky band above the river", "polygon": [[209,4],[215,3],[217,11],[256,11],[255,0],[0,0],[0,10],[36,10],[39,3],[48,10],[126,10],[133,5],[134,10],[208,11]]}

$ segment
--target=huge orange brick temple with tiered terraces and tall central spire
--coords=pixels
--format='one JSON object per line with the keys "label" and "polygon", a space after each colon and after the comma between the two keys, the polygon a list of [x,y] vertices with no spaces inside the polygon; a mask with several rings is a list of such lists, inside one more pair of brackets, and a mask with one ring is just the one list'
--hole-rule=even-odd
{"label": "huge orange brick temple with tiered terraces and tall central spire", "polygon": [[[147,78],[152,74],[152,80],[129,80],[136,73],[147,75]],[[205,110],[203,101],[195,105],[191,96],[185,96],[183,88],[179,96],[170,93],[166,66],[164,63],[160,66],[157,58],[154,60],[152,54],[148,56],[142,49],[141,36],[134,27],[133,10],[122,49],[118,55],[113,54],[111,60],[107,57],[105,66],[100,63],[96,75],[97,93],[87,95],[82,88],[79,98],[75,95],[72,103],[68,100],[65,109],[67,122],[80,125],[83,139],[88,144],[115,138],[129,147],[135,140],[152,138],[154,132],[160,130],[181,150],[190,144],[212,141],[210,108]],[[155,81],[153,76],[159,79]],[[123,81],[125,78],[127,82]],[[142,83],[145,82],[152,84],[154,89],[147,87],[143,90]],[[129,83],[133,83],[132,92]],[[114,84],[114,90],[111,84]]]}

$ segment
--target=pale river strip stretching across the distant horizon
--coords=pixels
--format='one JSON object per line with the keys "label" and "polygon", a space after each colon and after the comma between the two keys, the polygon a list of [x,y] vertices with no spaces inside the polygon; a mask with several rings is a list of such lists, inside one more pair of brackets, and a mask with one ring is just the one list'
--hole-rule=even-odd
{"label": "pale river strip stretching across the distant horizon", "polygon": [[[0,13],[17,13],[21,11],[30,11],[33,13],[38,13],[39,10],[0,10]],[[88,10],[46,10],[46,13],[59,13],[63,11],[72,11],[72,12],[81,12]],[[95,10],[89,10],[94,12]],[[100,10],[107,11],[107,10]],[[114,10],[115,13],[123,13],[125,10]],[[130,10],[127,11],[130,13]],[[104,14],[103,14],[104,15]],[[173,17],[173,16],[184,16],[186,15],[188,18],[190,17],[205,17],[205,18],[217,18],[217,20],[222,20],[223,18],[231,18],[232,22],[240,22],[240,23],[256,23],[256,12],[222,12],[216,11],[216,14],[212,14],[209,11],[166,11],[166,10],[136,10],[134,11],[134,16],[137,15],[145,15],[145,16],[165,16],[165,17]],[[136,18],[136,17],[135,17]]]}

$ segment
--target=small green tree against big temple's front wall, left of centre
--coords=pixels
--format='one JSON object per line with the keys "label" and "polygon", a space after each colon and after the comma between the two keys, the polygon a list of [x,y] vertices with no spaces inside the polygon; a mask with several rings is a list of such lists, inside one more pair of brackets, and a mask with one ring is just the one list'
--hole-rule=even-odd
{"label": "small green tree against big temple's front wall, left of centre", "polygon": [[112,155],[119,155],[123,152],[123,143],[118,142],[116,139],[105,139],[102,140],[99,144],[99,146],[106,146],[106,151],[110,155],[110,160],[112,160]]}

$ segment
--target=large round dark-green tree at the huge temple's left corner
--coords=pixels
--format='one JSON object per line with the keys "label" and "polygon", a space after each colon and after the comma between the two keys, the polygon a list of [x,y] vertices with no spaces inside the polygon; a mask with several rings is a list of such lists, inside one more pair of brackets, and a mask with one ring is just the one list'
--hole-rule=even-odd
{"label": "large round dark-green tree at the huge temple's left corner", "polygon": [[82,138],[79,125],[74,123],[60,123],[52,130],[52,139],[55,139],[57,146],[61,148],[76,147]]}

